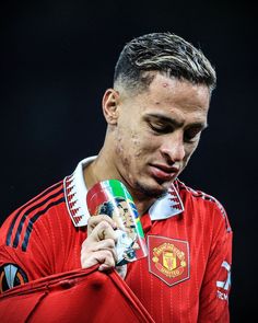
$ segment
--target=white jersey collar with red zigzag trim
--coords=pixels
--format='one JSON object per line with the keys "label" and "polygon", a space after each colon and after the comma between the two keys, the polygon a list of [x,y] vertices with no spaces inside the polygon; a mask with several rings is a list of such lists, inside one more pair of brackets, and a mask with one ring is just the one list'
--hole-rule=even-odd
{"label": "white jersey collar with red zigzag trim", "polygon": [[[96,159],[96,155],[83,159],[77,166],[72,175],[63,180],[64,197],[68,212],[74,227],[84,227],[87,224],[90,212],[86,206],[87,188],[83,177],[83,169],[90,162]],[[149,209],[151,220],[163,220],[181,214],[184,205],[177,189],[172,184],[167,194],[160,197]]]}

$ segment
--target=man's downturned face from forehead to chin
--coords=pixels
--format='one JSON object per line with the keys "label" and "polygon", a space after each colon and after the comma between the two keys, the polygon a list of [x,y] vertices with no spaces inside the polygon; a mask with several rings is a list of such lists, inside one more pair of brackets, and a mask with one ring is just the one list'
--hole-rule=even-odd
{"label": "man's downturned face from forehead to chin", "polygon": [[162,74],[146,91],[121,95],[113,160],[131,192],[157,197],[167,191],[198,146],[209,101],[206,85]]}

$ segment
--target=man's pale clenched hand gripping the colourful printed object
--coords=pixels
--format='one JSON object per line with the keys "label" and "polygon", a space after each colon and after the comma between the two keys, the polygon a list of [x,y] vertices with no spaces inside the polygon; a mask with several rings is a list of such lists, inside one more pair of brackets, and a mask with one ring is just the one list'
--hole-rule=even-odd
{"label": "man's pale clenched hand gripping the colourful printed object", "polygon": [[87,222],[87,238],[82,243],[81,265],[89,268],[101,264],[98,270],[107,270],[116,265],[116,222],[108,216],[93,216]]}

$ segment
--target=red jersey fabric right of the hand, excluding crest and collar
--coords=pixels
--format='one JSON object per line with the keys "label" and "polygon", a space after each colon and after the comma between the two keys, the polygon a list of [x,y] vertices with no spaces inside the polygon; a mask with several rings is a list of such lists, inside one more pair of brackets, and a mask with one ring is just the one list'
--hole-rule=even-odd
{"label": "red jersey fabric right of the hand, excluding crest and collar", "polygon": [[[228,300],[218,295],[227,298],[230,289],[216,287],[216,281],[228,277],[222,263],[232,263],[232,231],[226,215],[214,198],[179,185],[184,214],[154,221],[148,235],[189,242],[189,279],[171,287],[164,282],[164,275],[159,278],[150,274],[153,253],[149,249],[149,259],[128,266],[126,281],[155,322],[227,323]],[[149,227],[148,215],[141,221],[143,228]]]}

